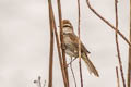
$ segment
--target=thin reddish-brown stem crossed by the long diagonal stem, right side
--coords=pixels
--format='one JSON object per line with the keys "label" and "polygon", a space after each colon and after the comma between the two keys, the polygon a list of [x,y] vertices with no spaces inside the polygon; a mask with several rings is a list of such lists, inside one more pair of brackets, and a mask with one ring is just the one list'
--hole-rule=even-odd
{"label": "thin reddish-brown stem crossed by the long diagonal stem, right side", "polygon": [[122,62],[121,62],[121,57],[120,57],[119,44],[118,44],[118,10],[117,10],[117,0],[115,0],[115,13],[116,13],[116,46],[117,46],[117,53],[118,53],[118,60],[119,60],[119,66],[120,66],[122,84],[123,84],[123,87],[126,87],[126,80],[124,80],[124,77],[123,77]]}

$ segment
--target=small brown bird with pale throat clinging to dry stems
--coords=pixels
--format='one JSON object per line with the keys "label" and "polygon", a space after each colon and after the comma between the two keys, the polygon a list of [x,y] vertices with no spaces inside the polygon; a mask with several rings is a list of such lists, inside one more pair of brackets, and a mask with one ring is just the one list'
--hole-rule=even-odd
{"label": "small brown bird with pale throat clinging to dry stems", "polygon": [[[66,53],[70,55],[71,58],[78,58],[79,57],[79,37],[73,32],[73,26],[68,20],[62,21],[62,32],[63,32],[63,44]],[[90,73],[93,73],[95,76],[99,76],[97,70],[93,65],[93,63],[90,61],[87,54],[90,51],[84,47],[84,45],[81,42],[81,55],[83,61],[86,63],[87,69]]]}

